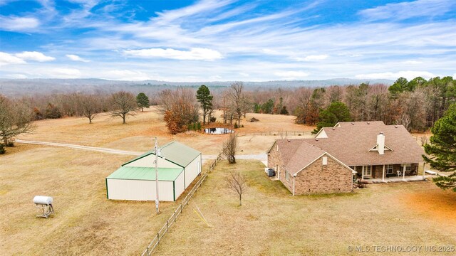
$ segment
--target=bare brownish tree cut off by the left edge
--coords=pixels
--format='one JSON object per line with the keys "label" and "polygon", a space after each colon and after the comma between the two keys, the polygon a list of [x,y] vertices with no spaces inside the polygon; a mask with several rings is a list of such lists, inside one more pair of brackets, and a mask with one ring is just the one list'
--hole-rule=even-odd
{"label": "bare brownish tree cut off by the left edge", "polygon": [[17,135],[33,131],[32,119],[29,107],[0,95],[0,137],[5,146]]}

